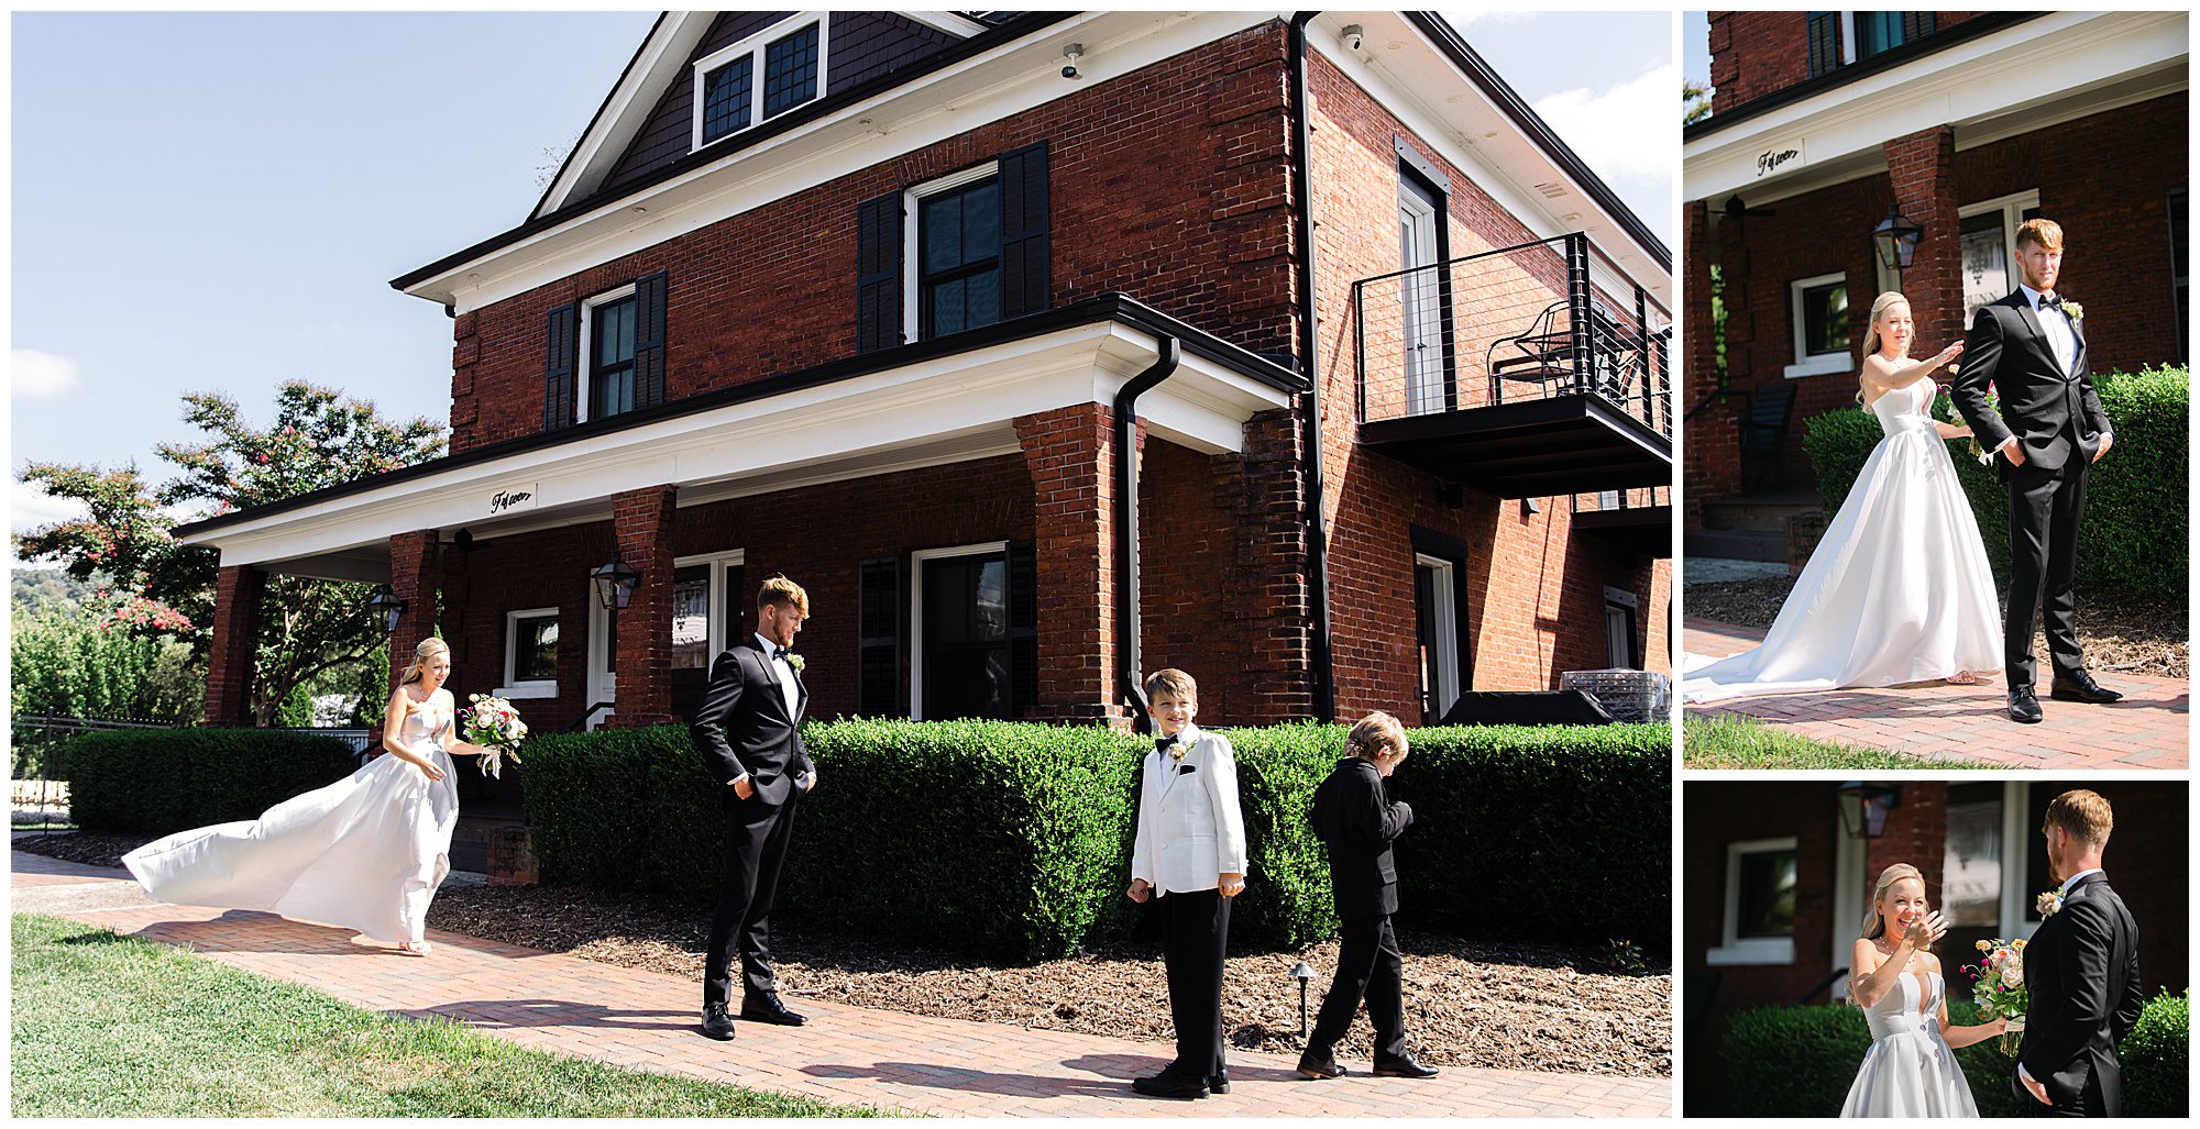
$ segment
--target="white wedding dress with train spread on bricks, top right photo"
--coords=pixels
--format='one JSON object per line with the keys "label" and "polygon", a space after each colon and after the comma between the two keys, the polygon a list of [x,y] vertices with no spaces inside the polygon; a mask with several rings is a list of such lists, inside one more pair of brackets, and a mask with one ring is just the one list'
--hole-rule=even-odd
{"label": "white wedding dress with train spread on bricks, top right photo", "polygon": [[1934,431],[1934,382],[1883,393],[1872,448],[1764,641],[1683,657],[1690,703],[1901,685],[2002,670],[2002,617],[1978,518]]}

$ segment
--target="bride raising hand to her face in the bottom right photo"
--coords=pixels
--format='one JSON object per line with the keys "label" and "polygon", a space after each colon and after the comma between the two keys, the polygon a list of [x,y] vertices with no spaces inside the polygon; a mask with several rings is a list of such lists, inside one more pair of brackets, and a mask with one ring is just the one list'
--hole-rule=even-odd
{"label": "bride raising hand to her face in the bottom right photo", "polygon": [[1925,905],[1918,868],[1885,868],[1848,960],[1848,997],[1863,1008],[1872,1048],[1848,1087],[1844,1118],[1978,1116],[1971,1083],[1956,1065],[1956,1048],[1993,1039],[2009,1024],[1993,1019],[1958,1028],[1947,1021],[1947,977],[1932,953],[1943,934],[1947,920]]}

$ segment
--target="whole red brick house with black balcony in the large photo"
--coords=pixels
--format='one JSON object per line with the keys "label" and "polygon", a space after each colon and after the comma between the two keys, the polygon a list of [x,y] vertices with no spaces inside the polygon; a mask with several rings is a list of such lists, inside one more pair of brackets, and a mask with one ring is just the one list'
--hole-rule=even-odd
{"label": "whole red brick house with black balcony in the large photo", "polygon": [[389,584],[537,729],[678,718],[779,571],[812,716],[1670,670],[1668,250],[1434,18],[664,13],[532,213],[392,286],[451,452],[178,529],[209,723],[266,573]]}

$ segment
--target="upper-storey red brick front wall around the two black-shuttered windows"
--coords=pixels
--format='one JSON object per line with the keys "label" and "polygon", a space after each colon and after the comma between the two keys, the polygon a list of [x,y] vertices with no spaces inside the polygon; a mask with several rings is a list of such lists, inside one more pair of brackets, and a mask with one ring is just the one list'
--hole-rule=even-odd
{"label": "upper-storey red brick front wall around the two black-shuttered windows", "polygon": [[1265,24],[458,318],[451,450],[541,431],[546,318],[667,272],[664,395],[856,351],[856,206],[1049,143],[1054,301],[1122,290],[1289,349],[1285,46]]}

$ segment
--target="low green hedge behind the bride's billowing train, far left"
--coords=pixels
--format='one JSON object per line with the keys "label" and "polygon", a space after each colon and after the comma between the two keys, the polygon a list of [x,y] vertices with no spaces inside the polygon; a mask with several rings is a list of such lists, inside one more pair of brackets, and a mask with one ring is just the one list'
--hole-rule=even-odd
{"label": "low green hedge behind the bride's billowing train, far left", "polygon": [[167,835],[255,819],[356,769],[332,736],[275,729],[130,729],[68,742],[68,815],[86,830]]}

